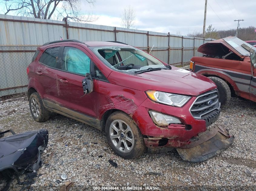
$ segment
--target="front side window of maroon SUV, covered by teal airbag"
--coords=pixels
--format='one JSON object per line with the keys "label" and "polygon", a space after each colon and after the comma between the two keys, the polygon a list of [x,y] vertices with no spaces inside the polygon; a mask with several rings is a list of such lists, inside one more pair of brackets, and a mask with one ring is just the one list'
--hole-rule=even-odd
{"label": "front side window of maroon SUV, covered by teal airbag", "polygon": [[90,73],[91,59],[80,49],[66,46],[62,56],[62,70],[85,75]]}

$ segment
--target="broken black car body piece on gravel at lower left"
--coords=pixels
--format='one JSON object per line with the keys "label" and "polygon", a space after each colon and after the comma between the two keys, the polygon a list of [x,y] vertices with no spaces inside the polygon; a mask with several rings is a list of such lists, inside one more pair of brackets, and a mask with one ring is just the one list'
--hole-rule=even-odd
{"label": "broken black car body piece on gravel at lower left", "polygon": [[[33,184],[36,171],[41,165],[41,154],[48,144],[48,131],[40,129],[15,135],[12,130],[0,132],[0,137],[11,132],[13,135],[0,139],[0,174],[7,180],[7,190],[16,174],[18,184]],[[27,173],[28,181],[20,182],[19,176]]]}

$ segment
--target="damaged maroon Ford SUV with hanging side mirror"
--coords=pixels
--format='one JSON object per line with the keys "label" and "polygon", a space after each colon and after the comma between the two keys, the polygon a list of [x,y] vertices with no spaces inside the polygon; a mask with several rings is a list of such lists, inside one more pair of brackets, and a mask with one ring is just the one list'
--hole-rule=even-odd
{"label": "damaged maroon Ford SUV with hanging side mirror", "polygon": [[125,159],[177,148],[185,161],[204,161],[233,143],[221,126],[216,85],[120,42],[63,40],[39,47],[27,68],[33,118],[50,111],[105,131]]}

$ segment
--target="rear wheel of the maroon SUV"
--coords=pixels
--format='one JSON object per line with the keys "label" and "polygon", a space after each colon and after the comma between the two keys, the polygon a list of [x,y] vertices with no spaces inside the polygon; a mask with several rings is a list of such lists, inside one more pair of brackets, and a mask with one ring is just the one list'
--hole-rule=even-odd
{"label": "rear wheel of the maroon SUV", "polygon": [[50,111],[45,109],[43,101],[37,92],[34,92],[29,97],[29,109],[32,117],[37,122],[43,122],[49,119]]}

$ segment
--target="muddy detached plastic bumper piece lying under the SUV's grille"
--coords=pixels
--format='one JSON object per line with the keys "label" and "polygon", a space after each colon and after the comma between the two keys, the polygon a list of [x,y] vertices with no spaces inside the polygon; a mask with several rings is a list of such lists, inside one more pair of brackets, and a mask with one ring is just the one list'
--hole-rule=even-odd
{"label": "muddy detached plastic bumper piece lying under the SUV's grille", "polygon": [[184,161],[202,162],[228,148],[233,142],[234,136],[229,135],[227,129],[216,125],[191,138],[191,144],[176,150]]}

